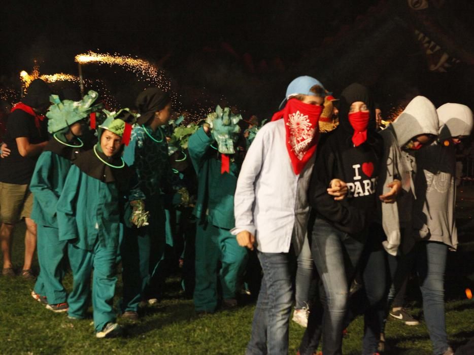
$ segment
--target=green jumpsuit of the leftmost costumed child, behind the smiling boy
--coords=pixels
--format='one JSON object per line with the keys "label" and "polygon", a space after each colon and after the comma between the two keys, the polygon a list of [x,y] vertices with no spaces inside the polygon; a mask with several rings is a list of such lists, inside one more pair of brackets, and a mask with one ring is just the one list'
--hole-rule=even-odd
{"label": "green jumpsuit of the leftmost costumed child, behind the smiling boy", "polygon": [[[51,141],[50,144],[55,143]],[[59,240],[56,205],[70,167],[71,160],[52,151],[45,151],[38,158],[29,186],[33,193],[31,219],[38,226],[37,250],[40,264],[34,291],[46,296],[49,304],[66,302],[66,291],[62,286],[64,267],[61,262],[66,253],[67,242]]]}

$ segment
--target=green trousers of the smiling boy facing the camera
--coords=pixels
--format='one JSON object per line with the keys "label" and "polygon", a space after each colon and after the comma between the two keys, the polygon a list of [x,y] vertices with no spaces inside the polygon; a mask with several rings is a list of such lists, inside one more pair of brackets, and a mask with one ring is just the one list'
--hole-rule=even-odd
{"label": "green trousers of the smiling boy facing the camera", "polygon": [[89,305],[90,276],[92,269],[92,308],[95,331],[101,331],[109,322],[115,322],[113,308],[116,275],[117,249],[104,247],[97,242],[94,250],[87,251],[69,244],[73,290],[67,297],[69,310],[74,318],[84,318]]}

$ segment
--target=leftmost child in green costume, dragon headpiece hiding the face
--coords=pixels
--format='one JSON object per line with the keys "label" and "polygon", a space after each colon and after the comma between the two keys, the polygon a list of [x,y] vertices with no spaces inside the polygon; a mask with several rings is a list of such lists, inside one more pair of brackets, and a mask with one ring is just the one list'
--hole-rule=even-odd
{"label": "leftmost child in green costume, dragon headpiece hiding the face", "polygon": [[79,96],[77,101],[61,101],[57,95],[50,96],[53,104],[46,116],[48,131],[53,137],[38,158],[29,186],[33,193],[31,219],[38,225],[40,264],[40,274],[31,296],[54,312],[65,312],[68,307],[62,285],[67,242],[59,240],[56,204],[71,161],[83,149],[84,142],[80,137],[87,129],[89,114],[100,108],[100,104],[93,105],[97,96],[92,90],[82,100]]}

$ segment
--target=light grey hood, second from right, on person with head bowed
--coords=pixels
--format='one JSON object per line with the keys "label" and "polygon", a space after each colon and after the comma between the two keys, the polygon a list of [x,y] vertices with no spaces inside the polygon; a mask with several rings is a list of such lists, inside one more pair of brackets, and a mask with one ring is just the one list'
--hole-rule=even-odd
{"label": "light grey hood, second from right, on person with head bowed", "polygon": [[411,100],[392,125],[400,148],[417,135],[438,135],[439,130],[436,108],[424,96]]}

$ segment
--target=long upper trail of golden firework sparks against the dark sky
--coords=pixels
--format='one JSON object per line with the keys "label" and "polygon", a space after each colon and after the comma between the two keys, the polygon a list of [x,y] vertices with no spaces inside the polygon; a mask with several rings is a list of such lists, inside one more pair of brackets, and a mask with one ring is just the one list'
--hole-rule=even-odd
{"label": "long upper trail of golden firework sparks against the dark sky", "polygon": [[164,91],[171,90],[171,82],[165,77],[163,71],[144,59],[131,58],[119,55],[118,53],[109,54],[89,51],[84,54],[76,55],[75,61],[79,64],[95,62],[98,64],[120,65]]}

